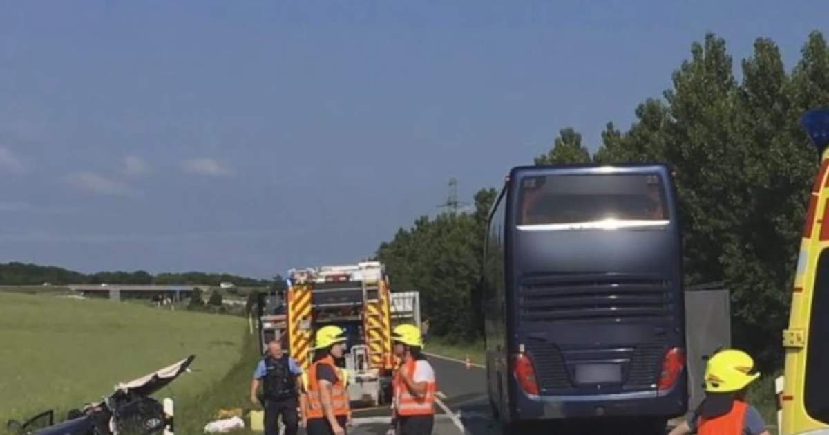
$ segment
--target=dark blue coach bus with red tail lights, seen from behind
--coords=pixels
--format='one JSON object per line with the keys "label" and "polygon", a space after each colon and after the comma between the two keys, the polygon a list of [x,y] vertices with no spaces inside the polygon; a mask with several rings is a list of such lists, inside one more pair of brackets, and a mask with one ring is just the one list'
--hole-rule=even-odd
{"label": "dark blue coach bus with red tail lights, seen from behind", "polygon": [[664,433],[686,412],[681,239],[666,166],[512,169],[484,250],[487,392],[505,427],[601,418]]}

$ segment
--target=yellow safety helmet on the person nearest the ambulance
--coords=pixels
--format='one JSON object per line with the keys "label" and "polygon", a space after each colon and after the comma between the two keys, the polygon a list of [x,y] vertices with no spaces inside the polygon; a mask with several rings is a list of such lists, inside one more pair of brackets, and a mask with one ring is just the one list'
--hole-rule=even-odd
{"label": "yellow safety helmet on the person nearest the ambulance", "polygon": [[734,393],[760,377],[754,370],[754,359],[742,350],[720,350],[705,364],[705,391]]}

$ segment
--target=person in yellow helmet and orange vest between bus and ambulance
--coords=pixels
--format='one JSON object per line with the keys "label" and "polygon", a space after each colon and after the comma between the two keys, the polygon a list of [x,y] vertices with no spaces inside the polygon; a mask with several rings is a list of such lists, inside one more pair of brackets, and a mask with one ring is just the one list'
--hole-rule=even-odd
{"label": "person in yellow helmet and orange vest between bus and ambulance", "polygon": [[742,350],[715,353],[705,365],[705,399],[670,435],[769,435],[757,408],[745,402],[749,384],[760,377]]}

